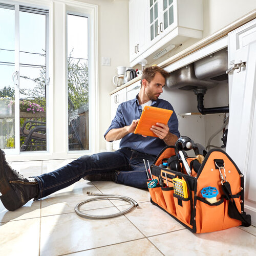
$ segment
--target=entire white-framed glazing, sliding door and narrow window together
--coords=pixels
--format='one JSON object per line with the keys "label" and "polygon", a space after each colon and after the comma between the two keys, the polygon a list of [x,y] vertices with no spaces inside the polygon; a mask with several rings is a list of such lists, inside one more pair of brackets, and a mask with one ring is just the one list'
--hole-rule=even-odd
{"label": "entire white-framed glazing, sliding door and narrow window together", "polygon": [[[9,111],[7,116],[0,113],[0,124],[4,122],[0,143],[8,146],[5,152],[9,159],[31,160],[31,155],[33,160],[76,158],[84,151],[98,152],[98,7],[79,0],[2,2],[6,4],[0,4],[0,22],[4,22],[0,26],[0,90],[5,94],[14,91],[15,97],[11,109],[0,104],[0,110]],[[3,36],[8,43],[3,44]],[[75,36],[74,41],[71,37]],[[77,76],[82,79],[75,80]],[[19,109],[22,100],[38,104],[42,108],[37,111],[39,114],[33,113],[35,109],[27,111],[30,106]],[[88,116],[84,114],[86,108]],[[20,152],[25,138],[19,138],[19,119],[27,118],[21,113],[26,111],[39,115],[36,121],[44,122],[34,127],[39,134],[46,131],[47,141],[42,138]]]}

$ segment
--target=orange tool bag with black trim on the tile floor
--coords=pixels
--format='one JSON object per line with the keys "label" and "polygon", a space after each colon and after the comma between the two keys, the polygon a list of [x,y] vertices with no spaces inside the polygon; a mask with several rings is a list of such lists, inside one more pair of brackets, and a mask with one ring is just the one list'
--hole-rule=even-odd
{"label": "orange tool bag with black trim on the tile floor", "polygon": [[197,170],[197,158],[188,157],[191,175],[182,164],[178,172],[163,167],[172,156],[175,147],[166,146],[151,165],[153,180],[147,184],[154,205],[195,233],[251,225],[244,212],[243,174],[224,151],[210,150]]}

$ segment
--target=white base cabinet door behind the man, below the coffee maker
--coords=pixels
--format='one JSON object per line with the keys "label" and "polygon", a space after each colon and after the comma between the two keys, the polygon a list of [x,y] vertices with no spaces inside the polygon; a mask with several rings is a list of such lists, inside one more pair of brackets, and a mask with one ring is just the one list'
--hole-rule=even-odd
{"label": "white base cabinet door behind the man, below the coffee maker", "polygon": [[[111,95],[111,120],[113,120],[116,115],[118,105],[124,101],[126,101],[126,88],[123,88],[122,90]],[[120,140],[115,140],[112,142],[113,150],[119,149],[119,142]]]}

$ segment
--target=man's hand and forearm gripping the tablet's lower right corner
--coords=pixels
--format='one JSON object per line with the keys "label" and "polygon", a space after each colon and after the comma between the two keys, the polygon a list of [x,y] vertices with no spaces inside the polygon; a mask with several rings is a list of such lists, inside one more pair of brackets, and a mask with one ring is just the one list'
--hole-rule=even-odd
{"label": "man's hand and forearm gripping the tablet's lower right corner", "polygon": [[163,123],[156,123],[156,125],[152,125],[150,130],[156,134],[159,139],[163,140],[166,145],[174,145],[178,137],[169,132],[168,125]]}

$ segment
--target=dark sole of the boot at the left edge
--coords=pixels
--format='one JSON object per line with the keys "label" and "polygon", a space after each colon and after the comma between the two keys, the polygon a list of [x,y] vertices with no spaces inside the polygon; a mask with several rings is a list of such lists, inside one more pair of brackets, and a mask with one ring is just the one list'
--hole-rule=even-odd
{"label": "dark sole of the boot at the left edge", "polygon": [[14,211],[19,208],[17,203],[19,202],[19,198],[11,187],[5,173],[2,150],[0,150],[0,192],[2,194],[0,199],[7,210]]}

